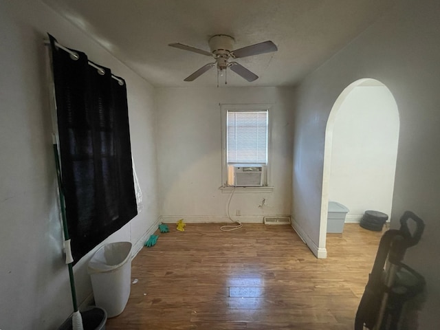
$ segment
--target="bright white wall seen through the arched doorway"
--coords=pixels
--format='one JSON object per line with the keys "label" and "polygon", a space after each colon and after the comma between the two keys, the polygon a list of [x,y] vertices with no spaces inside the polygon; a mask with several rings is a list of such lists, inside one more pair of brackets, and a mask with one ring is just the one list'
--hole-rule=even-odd
{"label": "bright white wall seen through the arched doorway", "polygon": [[329,201],[349,208],[346,222],[360,221],[366,210],[390,216],[399,138],[393,95],[384,86],[358,86],[337,111]]}

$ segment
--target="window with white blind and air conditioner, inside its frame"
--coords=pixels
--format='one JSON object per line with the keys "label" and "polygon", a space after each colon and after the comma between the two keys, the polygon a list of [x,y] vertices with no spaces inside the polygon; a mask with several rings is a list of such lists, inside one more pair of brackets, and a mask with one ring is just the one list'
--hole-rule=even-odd
{"label": "window with white blind and air conditioner, inside its frame", "polygon": [[223,187],[267,186],[269,107],[222,105]]}

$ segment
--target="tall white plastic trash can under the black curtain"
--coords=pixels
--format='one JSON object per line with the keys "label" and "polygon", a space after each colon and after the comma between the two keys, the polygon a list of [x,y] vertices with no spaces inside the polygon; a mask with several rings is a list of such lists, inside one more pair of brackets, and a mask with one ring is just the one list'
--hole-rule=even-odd
{"label": "tall white plastic trash can under the black curtain", "polygon": [[105,309],[108,318],[118,316],[130,296],[131,243],[103,245],[91,258],[88,266],[95,305]]}

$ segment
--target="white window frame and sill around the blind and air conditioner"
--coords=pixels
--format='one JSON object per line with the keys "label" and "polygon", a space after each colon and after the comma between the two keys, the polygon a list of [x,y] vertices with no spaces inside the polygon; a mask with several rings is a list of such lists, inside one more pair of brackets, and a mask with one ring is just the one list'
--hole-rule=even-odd
{"label": "white window frame and sill around the blind and air conditioner", "polygon": [[[270,166],[272,164],[272,120],[271,120],[271,108],[272,104],[220,104],[221,108],[221,189],[224,192],[231,190],[246,190],[250,192],[267,192],[272,191]],[[263,173],[263,186],[261,187],[240,187],[240,186],[228,186],[228,155],[227,155],[227,137],[228,137],[228,111],[236,112],[252,112],[252,111],[267,111],[267,164],[265,165],[265,173]]]}

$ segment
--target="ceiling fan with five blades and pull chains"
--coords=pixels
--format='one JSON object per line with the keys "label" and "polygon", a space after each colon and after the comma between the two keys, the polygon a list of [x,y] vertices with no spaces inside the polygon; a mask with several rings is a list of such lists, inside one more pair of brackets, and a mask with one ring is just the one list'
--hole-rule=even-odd
{"label": "ceiling fan with five blades and pull chains", "polygon": [[199,48],[184,45],[182,43],[170,43],[168,46],[179,48],[181,50],[188,50],[190,52],[195,52],[206,56],[212,56],[215,60],[215,62],[203,65],[203,67],[198,69],[196,72],[193,72],[188,77],[186,77],[184,81],[195,80],[195,78],[198,78],[199,76],[207,72],[210,68],[215,66],[217,66],[217,85],[219,75],[223,76],[223,72],[226,72],[226,69],[228,68],[230,68],[239,76],[245,78],[245,80],[254,81],[258,79],[259,76],[243,67],[243,65],[236,62],[230,62],[230,58],[242,58],[246,56],[276,52],[278,48],[274,43],[272,43],[272,41],[264,41],[263,43],[256,43],[255,45],[250,45],[239,48],[238,50],[234,50],[234,41],[235,40],[234,38],[232,38],[232,36],[227,36],[225,34],[216,34],[212,36],[208,41],[211,52],[200,50]]}

